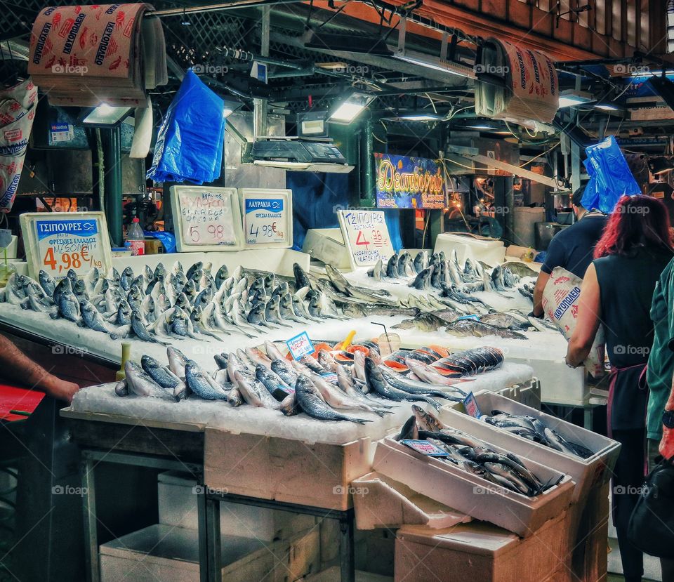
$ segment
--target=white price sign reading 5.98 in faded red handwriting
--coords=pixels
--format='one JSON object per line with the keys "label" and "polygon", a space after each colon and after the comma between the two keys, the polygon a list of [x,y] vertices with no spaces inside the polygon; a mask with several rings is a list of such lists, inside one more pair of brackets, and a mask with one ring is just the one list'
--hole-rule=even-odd
{"label": "white price sign reading 5.98 in faded red handwriting", "polygon": [[241,213],[234,188],[172,186],[178,251],[241,248]]}

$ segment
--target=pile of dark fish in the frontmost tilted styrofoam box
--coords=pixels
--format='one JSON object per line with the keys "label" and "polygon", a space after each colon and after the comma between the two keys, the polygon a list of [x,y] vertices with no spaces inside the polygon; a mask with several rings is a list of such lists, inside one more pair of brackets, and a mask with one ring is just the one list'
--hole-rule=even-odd
{"label": "pile of dark fish in the frontmost tilted styrofoam box", "polygon": [[496,487],[534,497],[564,478],[562,475],[555,482],[543,483],[515,454],[500,454],[468,433],[443,425],[419,406],[413,405],[412,411],[414,414],[404,424],[398,440],[428,441],[447,454],[439,457],[441,461],[482,477]]}

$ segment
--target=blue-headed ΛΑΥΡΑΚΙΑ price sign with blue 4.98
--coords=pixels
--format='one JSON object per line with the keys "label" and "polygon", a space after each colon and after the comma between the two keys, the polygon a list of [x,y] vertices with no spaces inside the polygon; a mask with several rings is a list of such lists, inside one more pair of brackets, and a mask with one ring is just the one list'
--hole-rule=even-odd
{"label": "blue-headed \u039b\u0391\u03a5\u03a1\u0391\u039a\u0399\u0391 price sign with blue 4.98", "polygon": [[242,188],[239,192],[244,211],[246,246],[256,249],[291,246],[291,190]]}

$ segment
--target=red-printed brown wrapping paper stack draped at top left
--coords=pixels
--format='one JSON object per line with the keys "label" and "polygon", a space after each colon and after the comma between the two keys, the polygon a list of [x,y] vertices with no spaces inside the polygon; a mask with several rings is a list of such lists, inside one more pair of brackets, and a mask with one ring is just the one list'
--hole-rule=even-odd
{"label": "red-printed brown wrapping paper stack draped at top left", "polygon": [[[30,35],[28,72],[49,102],[144,106],[145,89],[166,83],[164,34],[158,19],[143,18],[148,9],[149,4],[44,8]],[[162,54],[152,53],[152,70],[146,71],[144,48],[150,47]],[[154,80],[152,86],[146,77]]]}

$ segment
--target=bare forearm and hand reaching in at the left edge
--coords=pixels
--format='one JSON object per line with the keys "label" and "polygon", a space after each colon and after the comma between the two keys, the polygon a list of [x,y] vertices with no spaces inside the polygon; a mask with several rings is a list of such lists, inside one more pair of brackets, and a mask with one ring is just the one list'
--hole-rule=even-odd
{"label": "bare forearm and hand reaching in at the left edge", "polygon": [[43,390],[48,395],[71,402],[79,386],[57,378],[33,362],[11,340],[0,335],[0,370],[4,376],[20,382],[27,388]]}

